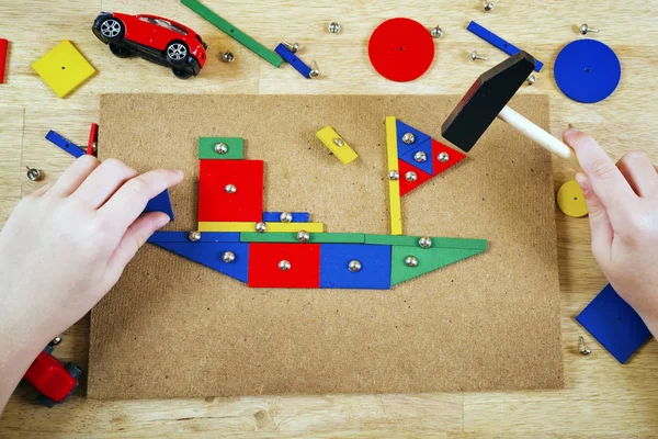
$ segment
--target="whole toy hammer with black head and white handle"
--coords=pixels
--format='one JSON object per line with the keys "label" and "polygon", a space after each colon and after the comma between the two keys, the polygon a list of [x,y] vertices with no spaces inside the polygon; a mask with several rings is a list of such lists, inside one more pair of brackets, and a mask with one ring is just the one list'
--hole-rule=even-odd
{"label": "whole toy hammer with black head and white handle", "polygon": [[480,75],[443,123],[443,137],[469,151],[498,116],[548,151],[577,165],[571,148],[507,106],[534,67],[535,59],[521,50]]}

